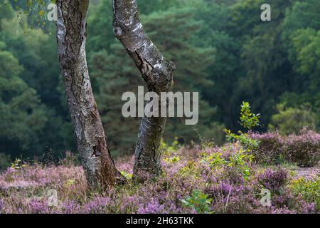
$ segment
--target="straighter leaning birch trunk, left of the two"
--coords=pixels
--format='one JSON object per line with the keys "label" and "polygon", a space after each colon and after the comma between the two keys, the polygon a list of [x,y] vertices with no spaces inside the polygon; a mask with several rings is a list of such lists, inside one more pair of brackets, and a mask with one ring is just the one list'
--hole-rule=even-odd
{"label": "straighter leaning birch trunk, left of the two", "polygon": [[92,94],[85,55],[89,0],[58,0],[57,43],[61,73],[87,183],[103,188],[122,182],[107,146]]}

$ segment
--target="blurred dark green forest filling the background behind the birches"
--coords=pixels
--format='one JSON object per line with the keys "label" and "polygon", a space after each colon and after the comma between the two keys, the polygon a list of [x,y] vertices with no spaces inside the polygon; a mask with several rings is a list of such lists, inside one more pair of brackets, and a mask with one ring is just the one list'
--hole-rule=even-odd
{"label": "blurred dark green forest filling the background behind the birches", "polygon": [[[0,169],[15,157],[75,151],[55,23],[31,29],[6,3],[19,1],[0,5]],[[320,2],[270,1],[270,22],[260,19],[263,3],[138,0],[146,32],[176,63],[174,90],[201,94],[198,125],[169,118],[164,141],[223,143],[224,128],[241,130],[242,100],[262,114],[257,130],[319,130]],[[111,1],[90,4],[87,60],[102,123],[112,153],[132,154],[139,118],[122,117],[121,95],[144,82],[114,38]]]}

